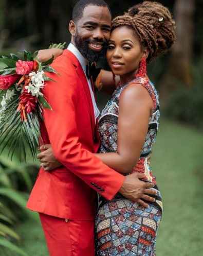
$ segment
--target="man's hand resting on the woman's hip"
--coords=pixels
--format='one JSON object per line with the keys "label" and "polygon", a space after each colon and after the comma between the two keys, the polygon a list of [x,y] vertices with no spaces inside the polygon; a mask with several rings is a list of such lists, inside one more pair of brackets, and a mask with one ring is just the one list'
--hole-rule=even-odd
{"label": "man's hand resting on the woman's hip", "polygon": [[[155,199],[149,195],[156,195],[156,191],[152,190],[153,183],[144,182],[140,179],[145,177],[144,174],[133,173],[126,176],[125,181],[119,192],[126,198],[138,202],[143,207],[148,207],[148,204],[143,201],[154,202]],[[149,195],[147,195],[149,194]]]}

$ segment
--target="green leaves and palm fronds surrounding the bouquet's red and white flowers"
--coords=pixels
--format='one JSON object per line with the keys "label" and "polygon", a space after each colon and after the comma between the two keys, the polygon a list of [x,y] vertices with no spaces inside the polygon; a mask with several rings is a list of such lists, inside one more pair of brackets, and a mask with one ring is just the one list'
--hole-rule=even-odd
{"label": "green leaves and palm fronds surrounding the bouquet's red and white flowers", "polygon": [[[63,44],[53,44],[50,48],[64,48]],[[23,57],[19,57],[15,54],[10,54],[9,57],[2,56],[0,58],[0,74],[8,75],[16,72],[16,61],[28,60],[33,61],[35,53],[27,52],[23,50]],[[48,63],[51,63],[53,58],[48,62],[38,62],[38,71],[45,71],[49,73],[57,73]],[[43,74],[45,81],[53,81],[51,78]],[[51,110],[51,106],[48,104],[43,95],[36,96],[35,100],[38,103],[34,106],[34,110],[30,113],[26,111],[26,105],[28,104],[21,102],[22,88],[24,76],[20,78],[17,84],[12,85],[6,94],[5,91],[0,90],[0,154],[7,147],[9,149],[8,157],[11,158],[17,151],[20,156],[20,160],[26,161],[27,151],[29,149],[33,159],[36,158],[37,148],[39,146],[40,138],[40,120],[42,120],[42,109],[48,108]],[[32,83],[32,82],[30,82]],[[17,88],[17,86],[19,88]],[[12,90],[10,90],[12,89]],[[24,90],[24,89],[23,89]],[[28,90],[29,93],[29,90]],[[30,93],[31,94],[31,93]],[[10,96],[9,96],[10,95]],[[3,98],[3,96],[5,96]],[[33,105],[35,102],[33,103]],[[1,106],[2,105],[2,106]],[[17,150],[16,150],[17,149]]]}

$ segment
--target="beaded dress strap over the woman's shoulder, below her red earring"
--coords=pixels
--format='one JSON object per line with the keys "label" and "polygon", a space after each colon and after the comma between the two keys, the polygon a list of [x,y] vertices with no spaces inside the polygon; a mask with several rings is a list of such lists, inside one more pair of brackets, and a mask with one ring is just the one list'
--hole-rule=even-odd
{"label": "beaded dress strap over the woman's shoulder, below her red earring", "polygon": [[141,86],[143,86],[149,92],[149,94],[153,100],[154,110],[157,109],[158,99],[156,97],[155,88],[149,79],[138,77],[138,78],[134,79],[133,81],[131,81],[130,84],[140,84]]}

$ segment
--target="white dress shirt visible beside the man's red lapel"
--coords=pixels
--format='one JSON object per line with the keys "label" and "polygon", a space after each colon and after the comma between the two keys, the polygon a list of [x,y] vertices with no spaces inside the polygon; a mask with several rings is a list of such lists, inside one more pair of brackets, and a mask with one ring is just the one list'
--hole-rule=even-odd
{"label": "white dress shirt visible beside the man's red lapel", "polygon": [[[82,66],[82,69],[85,73],[85,76],[86,76],[86,65],[88,63],[88,61],[82,56],[82,54],[79,52],[79,50],[76,48],[75,45],[73,45],[72,43],[70,43],[68,45],[68,48],[67,48],[72,54],[74,54],[76,56],[76,58],[79,60],[81,66]],[[91,94],[91,100],[93,101],[93,107],[94,107],[94,113],[95,113],[95,122],[97,120],[97,117],[99,116],[100,114],[100,111],[97,107],[97,104],[96,104],[96,100],[95,100],[95,95],[94,95],[94,92],[93,92],[93,89],[91,88],[91,81],[90,79],[87,78],[86,76],[86,79],[87,79],[87,83],[88,83],[88,86],[89,86],[89,91],[90,91],[90,94]]]}

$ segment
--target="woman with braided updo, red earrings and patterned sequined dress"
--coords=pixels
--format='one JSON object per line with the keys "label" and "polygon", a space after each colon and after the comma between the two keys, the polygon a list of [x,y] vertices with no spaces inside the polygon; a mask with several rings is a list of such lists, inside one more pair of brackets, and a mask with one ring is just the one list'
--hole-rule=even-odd
{"label": "woman with braided updo, red earrings and patterned sequined dress", "polygon": [[[156,2],[135,5],[113,20],[107,60],[113,74],[120,76],[120,83],[99,118],[101,147],[97,157],[124,175],[144,173],[145,180],[155,184],[156,196],[147,208],[121,194],[110,201],[100,198],[98,256],[155,255],[162,201],[148,160],[156,141],[159,100],[147,77],[146,63],[172,46],[174,30],[171,13]],[[103,76],[100,74],[101,81],[105,81],[105,73]],[[42,162],[47,164],[48,159]]]}

